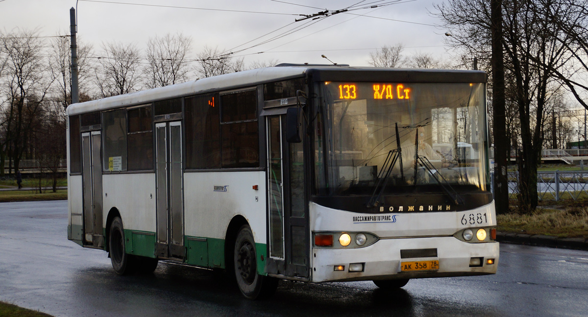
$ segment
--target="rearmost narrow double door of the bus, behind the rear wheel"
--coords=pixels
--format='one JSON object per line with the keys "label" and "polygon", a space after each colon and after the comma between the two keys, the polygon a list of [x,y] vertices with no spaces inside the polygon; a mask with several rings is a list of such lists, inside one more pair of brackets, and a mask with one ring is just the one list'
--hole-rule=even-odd
{"label": "rearmost narrow double door of the bus, behind the rear wheel", "polygon": [[100,131],[82,133],[84,240],[85,244],[95,247],[104,245],[101,146]]}

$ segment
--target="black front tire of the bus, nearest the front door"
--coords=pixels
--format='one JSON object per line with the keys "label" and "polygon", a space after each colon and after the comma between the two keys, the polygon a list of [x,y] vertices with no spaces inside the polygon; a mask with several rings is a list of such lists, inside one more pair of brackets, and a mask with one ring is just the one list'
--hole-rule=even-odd
{"label": "black front tire of the bus, nearest the front door", "polygon": [[233,267],[239,291],[248,299],[272,296],[278,288],[278,279],[257,274],[255,241],[248,225],[239,229],[233,251]]}

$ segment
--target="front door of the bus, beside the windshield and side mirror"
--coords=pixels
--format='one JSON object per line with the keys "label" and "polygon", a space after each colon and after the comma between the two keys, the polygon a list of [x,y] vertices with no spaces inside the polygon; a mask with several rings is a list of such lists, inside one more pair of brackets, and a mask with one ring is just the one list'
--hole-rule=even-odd
{"label": "front door of the bus, beside the windshield and side mirror", "polygon": [[302,143],[285,140],[285,116],[267,118],[268,272],[309,277],[308,212],[304,196]]}

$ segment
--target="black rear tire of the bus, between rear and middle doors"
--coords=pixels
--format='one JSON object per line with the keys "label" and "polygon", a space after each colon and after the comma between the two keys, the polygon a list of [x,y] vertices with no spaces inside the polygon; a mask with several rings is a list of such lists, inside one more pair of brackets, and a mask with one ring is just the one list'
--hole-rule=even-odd
{"label": "black rear tire of the bus, between rear and middle doors", "polygon": [[125,231],[122,227],[121,217],[115,217],[112,220],[108,245],[112,268],[116,274],[127,275],[135,272],[135,259],[125,250]]}

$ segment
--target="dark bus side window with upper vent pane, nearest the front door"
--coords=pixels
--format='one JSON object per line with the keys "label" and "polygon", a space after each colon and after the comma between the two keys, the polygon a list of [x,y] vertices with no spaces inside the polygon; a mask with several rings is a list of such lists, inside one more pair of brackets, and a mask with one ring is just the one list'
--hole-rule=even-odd
{"label": "dark bus side window with upper vent pane, nearest the front door", "polygon": [[222,167],[259,167],[256,90],[220,96]]}

